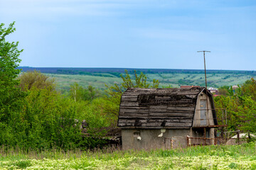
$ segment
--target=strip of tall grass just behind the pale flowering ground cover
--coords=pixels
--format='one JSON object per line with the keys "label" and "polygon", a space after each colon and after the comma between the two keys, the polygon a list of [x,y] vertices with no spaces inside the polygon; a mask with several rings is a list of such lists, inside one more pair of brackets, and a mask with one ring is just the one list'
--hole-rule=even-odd
{"label": "strip of tall grass just behind the pale flowering ground cover", "polygon": [[0,148],[0,161],[18,159],[118,159],[120,157],[198,157],[202,155],[218,157],[253,156],[256,159],[256,143],[242,145],[210,145],[177,149],[151,149],[151,150],[122,150],[120,147],[105,147],[103,149],[20,149],[2,146]]}

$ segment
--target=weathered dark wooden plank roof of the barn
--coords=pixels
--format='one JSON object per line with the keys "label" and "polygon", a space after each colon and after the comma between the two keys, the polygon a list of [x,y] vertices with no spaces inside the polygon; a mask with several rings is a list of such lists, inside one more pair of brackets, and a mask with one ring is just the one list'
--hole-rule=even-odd
{"label": "weathered dark wooden plank roof of the barn", "polygon": [[[121,98],[118,126],[149,129],[191,128],[196,101],[201,91],[206,92],[206,88],[127,89]],[[212,94],[207,94],[212,101]],[[213,106],[213,102],[211,103]]]}

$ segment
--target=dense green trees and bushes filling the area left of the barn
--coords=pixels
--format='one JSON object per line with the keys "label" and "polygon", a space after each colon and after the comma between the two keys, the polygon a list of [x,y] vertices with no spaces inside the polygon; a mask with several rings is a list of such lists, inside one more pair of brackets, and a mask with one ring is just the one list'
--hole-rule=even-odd
{"label": "dense green trees and bushes filling the area left of the barn", "polygon": [[[8,28],[0,25],[0,145],[27,151],[100,147],[104,127],[111,124],[102,108],[107,103],[92,86],[74,84],[65,96],[55,90],[53,79],[40,72],[18,77],[22,50],[18,42],[5,39],[14,30],[14,23]],[[82,120],[88,125],[86,133],[80,129]]]}

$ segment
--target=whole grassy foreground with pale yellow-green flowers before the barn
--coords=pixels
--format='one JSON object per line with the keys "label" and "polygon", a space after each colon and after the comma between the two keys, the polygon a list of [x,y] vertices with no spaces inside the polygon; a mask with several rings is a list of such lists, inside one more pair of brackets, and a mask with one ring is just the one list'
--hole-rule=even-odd
{"label": "whole grassy foreground with pale yellow-green flowers before the barn", "polygon": [[136,151],[0,149],[0,169],[256,169],[255,143]]}

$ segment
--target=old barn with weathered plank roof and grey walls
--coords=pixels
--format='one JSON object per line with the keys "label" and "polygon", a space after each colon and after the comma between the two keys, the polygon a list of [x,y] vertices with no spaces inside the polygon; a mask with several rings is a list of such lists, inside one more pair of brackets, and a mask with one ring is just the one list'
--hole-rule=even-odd
{"label": "old barn with weathered plank roof and grey walls", "polygon": [[133,88],[122,95],[118,126],[123,149],[170,149],[186,147],[188,137],[213,139],[218,123],[213,96],[204,87]]}

